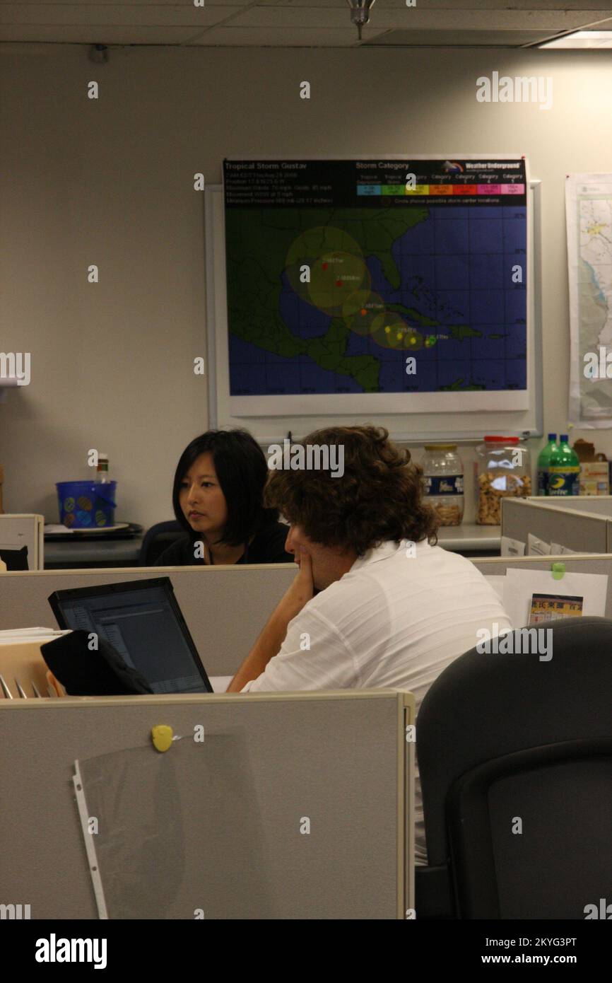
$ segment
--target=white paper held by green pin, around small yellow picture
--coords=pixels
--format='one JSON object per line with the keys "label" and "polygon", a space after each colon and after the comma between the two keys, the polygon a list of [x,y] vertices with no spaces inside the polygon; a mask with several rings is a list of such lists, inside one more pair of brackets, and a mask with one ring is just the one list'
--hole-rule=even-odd
{"label": "white paper held by green pin, around small yellow picture", "polygon": [[506,571],[503,605],[514,628],[529,624],[534,594],[583,598],[583,616],[605,617],[608,577],[604,573],[566,573],[555,580],[550,570],[525,567]]}

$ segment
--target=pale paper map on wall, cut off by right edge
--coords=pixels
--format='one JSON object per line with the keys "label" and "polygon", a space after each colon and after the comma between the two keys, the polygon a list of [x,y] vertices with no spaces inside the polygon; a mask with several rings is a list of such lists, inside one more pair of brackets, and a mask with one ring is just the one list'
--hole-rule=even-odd
{"label": "pale paper map on wall, cut off by right edge", "polygon": [[612,427],[612,174],[570,175],[565,195],[570,420],[585,428]]}

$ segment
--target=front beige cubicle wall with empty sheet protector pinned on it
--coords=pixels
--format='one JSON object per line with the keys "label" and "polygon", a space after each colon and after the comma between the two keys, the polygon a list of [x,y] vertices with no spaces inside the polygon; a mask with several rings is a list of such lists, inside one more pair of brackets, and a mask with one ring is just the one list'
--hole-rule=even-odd
{"label": "front beige cubicle wall with empty sheet protector pinned on it", "polygon": [[414,723],[401,690],[0,701],[0,901],[32,919],[405,918]]}

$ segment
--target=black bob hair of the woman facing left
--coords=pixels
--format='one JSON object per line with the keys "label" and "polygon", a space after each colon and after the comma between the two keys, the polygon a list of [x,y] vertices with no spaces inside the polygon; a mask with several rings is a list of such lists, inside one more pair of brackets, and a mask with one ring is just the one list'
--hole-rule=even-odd
{"label": "black bob hair of the woman facing left", "polygon": [[200,537],[192,529],[181,508],[181,483],[200,454],[212,454],[221,491],[227,502],[227,522],[221,539],[230,547],[249,543],[269,522],[278,519],[278,509],[264,508],[263,487],[268,465],[258,443],[246,430],[206,431],[181,454],[172,487],[172,505],[177,522],[195,542]]}

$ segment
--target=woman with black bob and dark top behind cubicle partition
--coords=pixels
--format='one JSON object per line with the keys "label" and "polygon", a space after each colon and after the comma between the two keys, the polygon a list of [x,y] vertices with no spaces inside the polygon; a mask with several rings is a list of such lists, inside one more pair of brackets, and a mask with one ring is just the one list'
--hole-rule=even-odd
{"label": "woman with black bob and dark top behind cubicle partition", "polygon": [[264,508],[268,466],[245,430],[207,431],[185,448],[172,504],[186,535],[164,549],[155,566],[213,563],[292,563],[289,527]]}

